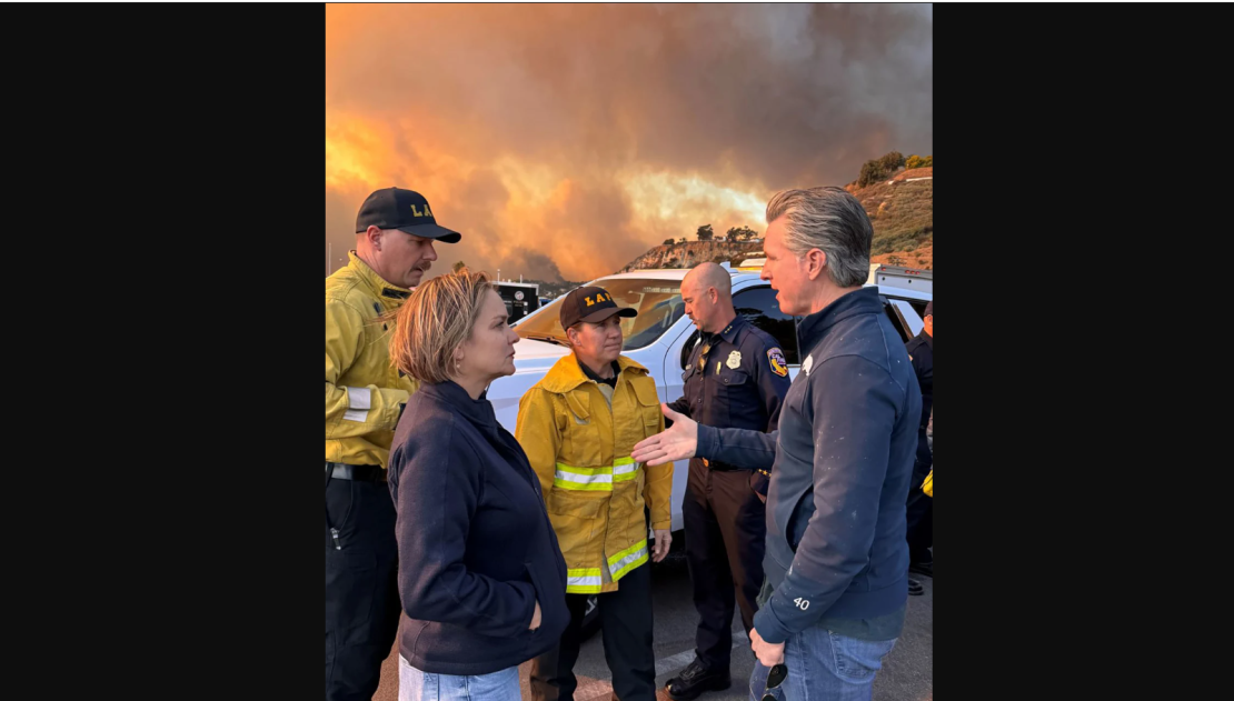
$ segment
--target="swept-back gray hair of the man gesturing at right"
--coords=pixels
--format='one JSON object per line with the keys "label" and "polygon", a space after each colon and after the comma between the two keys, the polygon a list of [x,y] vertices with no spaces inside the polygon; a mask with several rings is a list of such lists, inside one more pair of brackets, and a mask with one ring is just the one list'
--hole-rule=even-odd
{"label": "swept-back gray hair of the man gesturing at right", "polygon": [[768,223],[786,216],[785,247],[798,258],[812,248],[827,254],[827,274],[840,288],[870,276],[874,226],[865,209],[843,188],[782,190],[768,202]]}

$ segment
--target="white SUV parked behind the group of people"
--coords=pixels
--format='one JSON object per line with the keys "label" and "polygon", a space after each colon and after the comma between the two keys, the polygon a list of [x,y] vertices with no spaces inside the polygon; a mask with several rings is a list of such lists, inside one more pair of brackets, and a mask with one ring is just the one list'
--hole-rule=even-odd
{"label": "white SUV parked behind the group of people", "polygon": [[[687,272],[636,270],[587,283],[607,290],[619,306],[638,310],[637,317],[622,318],[626,337],[622,354],[650,371],[663,402],[671,402],[681,396],[681,375],[698,338],[690,317],[685,316],[685,302],[681,301],[681,280]],[[921,332],[921,312],[933,299],[930,292],[886,285],[866,286],[879,288],[884,310],[906,343]],[[560,304],[561,297],[558,297],[518,321],[515,331],[522,341],[515,344],[515,374],[499,378],[489,386],[489,400],[497,413],[497,421],[511,433],[515,432],[518,416],[518,400],[559,358],[570,353],[565,346],[565,332],[558,321]],[[733,272],[733,306],[737,307],[737,313],[780,342],[789,362],[790,376],[796,378],[801,368],[796,332],[800,317],[780,311],[775,290],[760,280],[756,272]],[[687,474],[689,460],[677,460],[673,470],[674,531],[684,527],[681,502],[686,492]]]}

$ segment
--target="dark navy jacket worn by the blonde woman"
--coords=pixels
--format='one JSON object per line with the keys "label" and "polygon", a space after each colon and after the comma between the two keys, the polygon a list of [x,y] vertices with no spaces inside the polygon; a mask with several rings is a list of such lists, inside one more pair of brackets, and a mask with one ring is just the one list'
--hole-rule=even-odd
{"label": "dark navy jacket worn by the blonde woman", "polygon": [[[539,479],[492,404],[422,384],[390,447],[399,516],[399,652],[432,674],[480,675],[558,644],[565,560]],[[529,631],[536,601],[540,626]]]}

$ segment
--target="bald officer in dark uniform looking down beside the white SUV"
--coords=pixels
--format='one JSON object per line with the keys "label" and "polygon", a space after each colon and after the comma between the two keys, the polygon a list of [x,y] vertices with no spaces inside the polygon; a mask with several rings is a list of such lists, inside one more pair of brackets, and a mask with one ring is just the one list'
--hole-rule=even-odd
{"label": "bald officer in dark uniform looking down beside the white SUV", "polygon": [[[774,431],[789,365],[775,338],[737,316],[728,270],[714,263],[690,270],[681,297],[700,339],[682,375],[685,394],[670,407],[706,426]],[[675,701],[731,685],[734,595],[749,633],[763,586],[766,489],[765,471],[690,460],[681,511],[700,621],[694,662],[668,681]]]}

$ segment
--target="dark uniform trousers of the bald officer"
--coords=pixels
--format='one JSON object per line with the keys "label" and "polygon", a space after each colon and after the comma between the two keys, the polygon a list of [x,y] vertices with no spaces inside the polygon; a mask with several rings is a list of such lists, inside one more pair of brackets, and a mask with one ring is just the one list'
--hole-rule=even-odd
{"label": "dark uniform trousers of the bald officer", "polygon": [[708,669],[728,670],[734,600],[749,634],[763,586],[766,507],[750,489],[749,470],[714,471],[690,460],[681,516],[698,631],[695,655]]}

